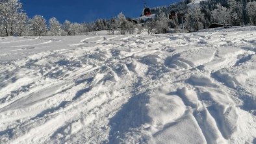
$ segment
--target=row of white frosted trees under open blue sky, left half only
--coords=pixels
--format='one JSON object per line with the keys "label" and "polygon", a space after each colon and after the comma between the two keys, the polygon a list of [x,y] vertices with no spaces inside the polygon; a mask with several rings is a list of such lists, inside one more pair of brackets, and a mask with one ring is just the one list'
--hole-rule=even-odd
{"label": "row of white frosted trees under open blue sky, left half only", "polygon": [[56,18],[47,21],[43,16],[28,18],[19,0],[0,1],[0,36],[75,36],[97,30],[108,30],[110,34],[140,34],[141,25],[127,21],[122,12],[118,18],[97,19],[91,23],[60,23]]}

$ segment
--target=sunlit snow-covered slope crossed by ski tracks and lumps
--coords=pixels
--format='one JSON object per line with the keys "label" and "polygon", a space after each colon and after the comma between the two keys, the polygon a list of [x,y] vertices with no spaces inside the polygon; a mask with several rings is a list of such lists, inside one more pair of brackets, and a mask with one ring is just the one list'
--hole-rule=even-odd
{"label": "sunlit snow-covered slope crossed by ski tracks and lumps", "polygon": [[0,143],[256,143],[256,27],[0,38]]}

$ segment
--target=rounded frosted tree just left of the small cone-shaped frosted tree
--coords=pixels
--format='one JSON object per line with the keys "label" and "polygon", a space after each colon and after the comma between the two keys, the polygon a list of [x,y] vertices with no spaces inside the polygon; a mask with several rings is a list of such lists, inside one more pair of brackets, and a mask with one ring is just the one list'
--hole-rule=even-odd
{"label": "rounded frosted tree just left of the small cone-shaped frosted tree", "polygon": [[45,36],[47,28],[45,25],[46,21],[42,16],[36,15],[31,20],[31,29],[33,36]]}

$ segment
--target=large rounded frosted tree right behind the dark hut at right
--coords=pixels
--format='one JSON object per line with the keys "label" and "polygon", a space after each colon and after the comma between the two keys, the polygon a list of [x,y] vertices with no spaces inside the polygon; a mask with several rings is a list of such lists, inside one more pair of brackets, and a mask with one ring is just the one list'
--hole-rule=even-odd
{"label": "large rounded frosted tree right behind the dark hut at right", "polygon": [[230,11],[218,3],[217,8],[212,10],[212,22],[228,24],[231,21]]}

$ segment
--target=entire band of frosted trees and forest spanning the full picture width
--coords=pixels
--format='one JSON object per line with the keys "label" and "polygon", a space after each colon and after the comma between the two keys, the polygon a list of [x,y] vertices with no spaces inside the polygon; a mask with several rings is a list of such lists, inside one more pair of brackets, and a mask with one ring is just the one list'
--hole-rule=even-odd
{"label": "entire band of frosted trees and forest spanning the full picture width", "polygon": [[[256,25],[256,2],[248,0],[208,0],[199,5],[187,5],[191,0],[170,6],[151,8],[157,18],[144,25],[134,25],[122,12],[117,18],[97,19],[91,23],[60,23],[56,18],[46,21],[42,16],[28,18],[19,0],[0,1],[0,36],[65,36],[108,30],[110,34],[140,34],[197,31],[207,29],[211,23],[236,26]],[[169,16],[170,12],[174,16]],[[142,27],[143,26],[143,27]],[[145,28],[145,29],[144,29]],[[173,31],[172,31],[173,32]]]}

